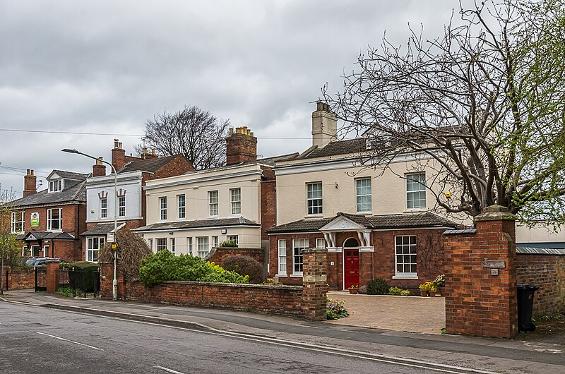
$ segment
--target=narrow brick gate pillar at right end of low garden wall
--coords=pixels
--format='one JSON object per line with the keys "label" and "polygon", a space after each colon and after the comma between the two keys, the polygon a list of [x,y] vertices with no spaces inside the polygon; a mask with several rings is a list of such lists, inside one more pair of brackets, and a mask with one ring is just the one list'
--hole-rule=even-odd
{"label": "narrow brick gate pillar at right end of low garden wall", "polygon": [[326,319],[327,258],[325,248],[302,250],[302,310],[309,320]]}

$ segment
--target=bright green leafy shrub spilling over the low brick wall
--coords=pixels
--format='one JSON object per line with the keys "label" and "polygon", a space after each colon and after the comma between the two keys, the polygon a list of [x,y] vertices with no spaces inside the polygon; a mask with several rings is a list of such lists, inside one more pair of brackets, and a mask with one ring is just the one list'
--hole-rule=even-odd
{"label": "bright green leafy shrub spilling over the low brick wall", "polygon": [[249,277],[222,269],[192,255],[178,257],[165,249],[141,260],[139,280],[146,287],[165,281],[249,283]]}

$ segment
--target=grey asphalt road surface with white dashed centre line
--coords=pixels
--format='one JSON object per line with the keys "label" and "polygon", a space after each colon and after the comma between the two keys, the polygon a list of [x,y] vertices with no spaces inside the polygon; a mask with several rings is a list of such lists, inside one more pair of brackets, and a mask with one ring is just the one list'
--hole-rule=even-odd
{"label": "grey asphalt road surface with white dashed centre line", "polygon": [[0,302],[0,372],[439,373],[418,363],[5,302]]}

